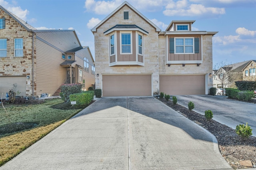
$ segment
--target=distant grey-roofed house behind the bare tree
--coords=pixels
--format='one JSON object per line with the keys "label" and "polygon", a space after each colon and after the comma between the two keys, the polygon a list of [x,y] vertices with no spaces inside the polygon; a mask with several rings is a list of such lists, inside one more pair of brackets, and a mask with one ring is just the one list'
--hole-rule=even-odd
{"label": "distant grey-roofed house behind the bare tree", "polygon": [[[250,61],[250,60],[249,60]],[[242,69],[249,63],[249,61],[242,61],[239,63],[234,63],[230,65],[225,65],[224,67],[220,67],[214,76],[213,76],[213,87],[222,88],[221,80],[217,76],[219,73],[225,74],[226,71],[230,71],[230,76],[232,77],[232,82],[227,81],[224,83],[224,88],[235,88],[235,81],[242,81],[243,79],[243,71]]]}

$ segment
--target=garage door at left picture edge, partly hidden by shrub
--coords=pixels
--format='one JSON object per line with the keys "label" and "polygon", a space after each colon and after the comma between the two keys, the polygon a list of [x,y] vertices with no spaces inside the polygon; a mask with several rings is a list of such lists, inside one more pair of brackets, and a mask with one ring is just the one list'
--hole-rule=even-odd
{"label": "garage door at left picture edge, partly hidden by shrub", "polygon": [[26,96],[26,77],[0,77],[0,98],[5,98],[6,92],[12,89],[13,84],[17,83],[16,91],[20,92],[20,96]]}

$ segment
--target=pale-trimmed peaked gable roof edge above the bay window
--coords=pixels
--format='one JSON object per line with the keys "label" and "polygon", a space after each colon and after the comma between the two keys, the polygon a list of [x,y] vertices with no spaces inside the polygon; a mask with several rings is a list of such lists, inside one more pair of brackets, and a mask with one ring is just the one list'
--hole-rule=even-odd
{"label": "pale-trimmed peaked gable roof edge above the bay window", "polygon": [[154,27],[156,29],[156,32],[160,32],[161,29],[158,28],[158,26],[156,26],[153,22],[151,22],[150,20],[148,20],[148,18],[146,18],[144,15],[142,15],[138,10],[136,10],[133,6],[131,6],[128,2],[124,2],[122,3],[118,8],[116,8],[113,12],[111,12],[106,18],[104,18],[104,20],[102,20],[99,24],[97,24],[94,28],[92,28],[92,32],[97,32],[97,28],[100,27],[102,24],[104,24],[104,22],[106,22],[110,17],[112,17],[114,14],[116,14],[116,12],[118,12],[121,8],[123,8],[124,6],[128,6],[129,8],[131,8],[134,12],[136,12],[141,18],[143,18],[144,20],[146,20],[146,22],[148,22],[152,27]]}

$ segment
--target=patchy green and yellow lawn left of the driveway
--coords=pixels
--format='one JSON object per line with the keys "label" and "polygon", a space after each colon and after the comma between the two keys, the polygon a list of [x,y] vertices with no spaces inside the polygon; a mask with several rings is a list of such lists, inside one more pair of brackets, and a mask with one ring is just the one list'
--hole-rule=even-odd
{"label": "patchy green and yellow lawn left of the driveway", "polygon": [[[6,111],[5,111],[5,109]],[[43,103],[0,104],[0,166],[70,119],[74,109],[62,99]]]}

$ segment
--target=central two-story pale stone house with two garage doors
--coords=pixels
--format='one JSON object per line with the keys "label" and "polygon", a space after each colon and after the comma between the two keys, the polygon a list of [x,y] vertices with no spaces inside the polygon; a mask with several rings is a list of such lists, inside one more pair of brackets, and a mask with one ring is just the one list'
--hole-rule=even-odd
{"label": "central two-story pale stone house with two garage doors", "polygon": [[174,20],[165,31],[128,2],[92,28],[96,88],[103,96],[205,95],[212,87],[212,36]]}

